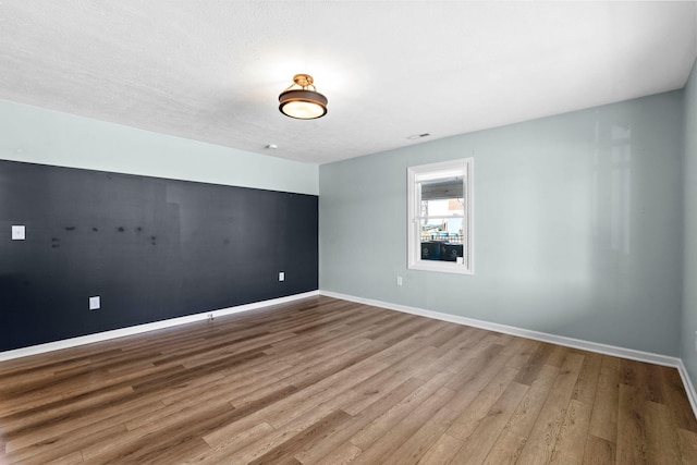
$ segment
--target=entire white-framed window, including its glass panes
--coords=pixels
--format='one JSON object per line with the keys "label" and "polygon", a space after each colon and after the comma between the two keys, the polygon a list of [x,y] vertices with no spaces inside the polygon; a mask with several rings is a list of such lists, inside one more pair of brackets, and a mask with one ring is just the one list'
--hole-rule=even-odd
{"label": "entire white-framed window, including its glass panes", "polygon": [[409,167],[408,267],[472,274],[474,159]]}

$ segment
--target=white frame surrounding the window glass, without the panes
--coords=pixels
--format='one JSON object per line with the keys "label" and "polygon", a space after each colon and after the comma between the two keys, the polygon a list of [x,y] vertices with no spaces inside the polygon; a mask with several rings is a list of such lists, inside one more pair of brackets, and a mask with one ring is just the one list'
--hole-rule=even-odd
{"label": "white frame surrounding the window glass, without the panes", "polygon": [[[419,182],[452,175],[463,176],[465,225],[463,234],[463,260],[440,261],[421,259],[420,220],[421,189]],[[445,273],[474,274],[474,158],[420,164],[407,168],[408,197],[408,268],[412,270],[438,271]]]}

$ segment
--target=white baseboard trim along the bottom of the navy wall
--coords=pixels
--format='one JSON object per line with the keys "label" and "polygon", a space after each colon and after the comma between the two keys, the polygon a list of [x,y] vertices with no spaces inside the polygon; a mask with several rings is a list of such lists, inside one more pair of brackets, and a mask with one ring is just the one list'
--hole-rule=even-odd
{"label": "white baseboard trim along the bottom of the navy wall", "polygon": [[29,355],[42,354],[46,352],[60,351],[61,348],[75,347],[77,345],[90,344],[93,342],[107,341],[110,339],[123,338],[124,335],[139,334],[142,332],[155,331],[163,328],[171,328],[180,325],[186,325],[194,321],[206,320],[209,316],[213,318],[224,315],[240,314],[257,308],[270,307],[272,305],[286,304],[289,302],[298,301],[301,298],[313,297],[319,295],[319,291],[309,291],[302,294],[289,295],[288,297],[271,298],[269,301],[254,302],[252,304],[237,305],[235,307],[220,308],[218,310],[203,311],[196,315],[187,315],[185,317],[170,318],[162,321],[154,321],[151,323],[138,325],[127,328],[114,329],[111,331],[98,332],[95,334],[81,335],[78,338],[64,339],[56,342],[47,342],[46,344],[32,345],[28,347],[15,348],[12,351],[0,352],[0,362],[13,358],[26,357]]}

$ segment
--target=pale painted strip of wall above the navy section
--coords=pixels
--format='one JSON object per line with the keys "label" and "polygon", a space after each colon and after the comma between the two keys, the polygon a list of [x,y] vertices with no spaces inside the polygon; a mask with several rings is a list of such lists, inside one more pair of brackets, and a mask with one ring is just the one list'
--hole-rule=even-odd
{"label": "pale painted strip of wall above the navy section", "polygon": [[318,166],[0,100],[0,159],[318,194]]}

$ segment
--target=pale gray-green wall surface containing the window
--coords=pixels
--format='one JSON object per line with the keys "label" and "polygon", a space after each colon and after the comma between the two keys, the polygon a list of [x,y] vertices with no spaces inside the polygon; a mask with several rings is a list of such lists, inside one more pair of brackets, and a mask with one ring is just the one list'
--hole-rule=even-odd
{"label": "pale gray-green wall surface containing the window", "polygon": [[[675,356],[682,135],[674,91],[320,166],[320,289]],[[407,270],[406,168],[470,156],[475,274]]]}

